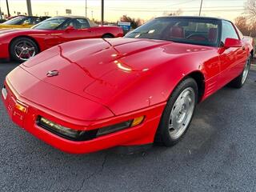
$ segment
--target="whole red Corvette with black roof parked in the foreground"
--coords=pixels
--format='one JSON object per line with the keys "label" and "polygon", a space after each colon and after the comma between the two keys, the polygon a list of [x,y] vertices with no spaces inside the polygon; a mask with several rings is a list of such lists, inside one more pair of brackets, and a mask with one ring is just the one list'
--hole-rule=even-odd
{"label": "whole red Corvette with black roof parked in the foreground", "polygon": [[7,75],[2,101],[18,126],[69,153],[172,146],[198,102],[228,83],[244,85],[253,53],[232,22],[155,18],[125,38],[38,54]]}

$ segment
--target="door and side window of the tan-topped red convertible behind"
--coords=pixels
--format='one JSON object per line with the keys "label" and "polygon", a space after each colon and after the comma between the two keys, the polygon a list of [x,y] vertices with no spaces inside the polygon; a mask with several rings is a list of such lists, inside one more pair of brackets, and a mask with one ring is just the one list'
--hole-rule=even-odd
{"label": "door and side window of the tan-topped red convertible behind", "polygon": [[62,42],[70,42],[84,38],[94,38],[94,30],[91,30],[90,24],[86,18],[73,18],[62,26]]}

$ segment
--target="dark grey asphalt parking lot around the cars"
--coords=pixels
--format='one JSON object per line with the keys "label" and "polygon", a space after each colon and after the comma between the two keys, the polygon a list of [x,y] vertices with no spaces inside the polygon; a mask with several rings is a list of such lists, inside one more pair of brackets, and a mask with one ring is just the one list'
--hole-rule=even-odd
{"label": "dark grey asphalt parking lot around the cars", "polygon": [[[0,63],[0,82],[17,64]],[[256,191],[256,71],[196,110],[172,148],[73,155],[15,126],[0,102],[0,191]]]}

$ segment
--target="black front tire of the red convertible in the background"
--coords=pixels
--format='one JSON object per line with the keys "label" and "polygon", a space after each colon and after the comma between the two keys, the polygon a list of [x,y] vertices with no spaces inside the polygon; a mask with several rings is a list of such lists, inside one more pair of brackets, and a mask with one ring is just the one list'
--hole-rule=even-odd
{"label": "black front tire of the red convertible in the background", "polygon": [[[27,56],[27,58],[19,58],[18,55],[16,54],[16,46],[19,46],[21,47],[22,43],[23,42],[26,42],[25,46],[27,46],[28,48],[32,48],[34,47],[34,54],[31,54],[32,57],[36,54],[39,53],[39,49],[38,49],[38,45],[33,41],[31,40],[30,38],[16,38],[14,39],[13,42],[11,42],[10,44],[10,58],[13,59],[14,61],[17,61],[17,62],[26,62],[26,60],[29,59],[29,56]],[[32,52],[32,50],[30,51],[30,53]],[[29,54],[28,54],[29,55]]]}

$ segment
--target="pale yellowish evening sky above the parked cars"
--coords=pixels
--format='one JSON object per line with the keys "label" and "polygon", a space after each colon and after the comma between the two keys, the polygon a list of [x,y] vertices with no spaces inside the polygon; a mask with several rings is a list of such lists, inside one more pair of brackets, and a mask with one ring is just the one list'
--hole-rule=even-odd
{"label": "pale yellowish evening sky above the parked cars", "polygon": [[[86,15],[86,0],[31,0],[34,15],[66,15],[66,9],[73,15]],[[147,21],[166,13],[182,10],[182,15],[198,15],[201,0],[105,0],[105,20],[116,22],[126,14],[132,18]],[[244,14],[246,0],[203,0],[202,15],[218,18],[234,18]],[[0,0],[6,14],[6,0]],[[14,11],[26,13],[26,0],[9,0],[10,14]],[[101,0],[87,0],[87,17],[100,20]]]}

